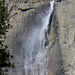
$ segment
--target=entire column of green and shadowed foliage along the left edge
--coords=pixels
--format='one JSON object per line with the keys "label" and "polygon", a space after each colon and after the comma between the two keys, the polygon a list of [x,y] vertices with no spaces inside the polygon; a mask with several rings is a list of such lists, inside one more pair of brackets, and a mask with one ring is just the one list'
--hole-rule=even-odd
{"label": "entire column of green and shadowed foliage along the left edge", "polygon": [[8,46],[4,45],[4,40],[1,36],[5,36],[8,28],[8,9],[5,5],[5,0],[0,0],[0,75],[5,75],[4,72],[7,72],[10,67],[14,67],[14,63],[10,62],[10,59],[13,57],[10,55],[7,50]]}

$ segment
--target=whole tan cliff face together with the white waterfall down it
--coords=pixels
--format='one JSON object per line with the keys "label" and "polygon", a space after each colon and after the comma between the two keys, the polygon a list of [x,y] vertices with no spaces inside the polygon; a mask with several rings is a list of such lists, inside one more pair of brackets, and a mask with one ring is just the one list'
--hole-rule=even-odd
{"label": "whole tan cliff face together with the white waterfall down it", "polygon": [[14,68],[4,75],[75,75],[75,0],[5,0],[6,5],[4,43]]}

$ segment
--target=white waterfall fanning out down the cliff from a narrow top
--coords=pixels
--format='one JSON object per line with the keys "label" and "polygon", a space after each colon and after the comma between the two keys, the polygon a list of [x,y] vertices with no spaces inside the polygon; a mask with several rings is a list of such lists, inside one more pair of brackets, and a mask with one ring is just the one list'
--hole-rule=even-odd
{"label": "white waterfall fanning out down the cliff from a narrow top", "polygon": [[48,75],[49,56],[44,44],[46,41],[45,32],[48,30],[53,5],[54,1],[51,1],[49,10],[37,16],[40,17],[40,20],[37,19],[39,23],[35,27],[32,27],[28,37],[24,41],[22,48],[25,50],[25,75]]}

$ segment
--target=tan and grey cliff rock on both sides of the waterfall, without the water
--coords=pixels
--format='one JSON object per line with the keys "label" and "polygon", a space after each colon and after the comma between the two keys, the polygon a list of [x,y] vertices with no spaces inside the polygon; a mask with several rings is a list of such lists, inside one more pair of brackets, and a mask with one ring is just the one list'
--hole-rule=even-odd
{"label": "tan and grey cliff rock on both sides of the waterfall, without the water", "polygon": [[[48,5],[47,0],[13,0],[9,2],[8,17],[12,28],[9,29],[6,43],[11,54],[14,69],[8,75],[25,75],[24,50],[21,50],[22,36],[27,37],[34,22],[37,10]],[[75,75],[75,1],[65,0],[55,3],[55,10],[50,19],[49,31],[46,34],[49,45],[48,75]],[[42,10],[42,9],[41,9]],[[41,11],[39,11],[41,12]],[[33,27],[33,26],[32,26]]]}

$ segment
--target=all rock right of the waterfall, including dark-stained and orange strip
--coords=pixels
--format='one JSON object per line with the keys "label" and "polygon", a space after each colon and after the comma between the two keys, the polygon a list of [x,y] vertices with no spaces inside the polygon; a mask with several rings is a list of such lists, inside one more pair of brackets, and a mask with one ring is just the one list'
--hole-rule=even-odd
{"label": "all rock right of the waterfall, including dark-stained and orange strip", "polygon": [[[52,66],[50,68],[53,68],[52,70],[50,70],[50,75],[75,75],[74,4],[74,0],[65,0],[60,3],[55,3],[55,19],[52,22],[55,23],[51,24],[53,28],[51,27],[50,32],[50,43],[52,44],[52,47],[50,48],[50,50],[52,50],[52,52],[50,52],[50,59],[51,57],[53,57],[53,63],[50,63],[50,65]],[[59,55],[57,50],[59,50]],[[57,69],[57,62],[60,64],[60,69]],[[57,66],[54,64],[56,64]]]}

